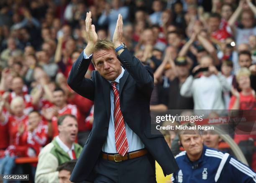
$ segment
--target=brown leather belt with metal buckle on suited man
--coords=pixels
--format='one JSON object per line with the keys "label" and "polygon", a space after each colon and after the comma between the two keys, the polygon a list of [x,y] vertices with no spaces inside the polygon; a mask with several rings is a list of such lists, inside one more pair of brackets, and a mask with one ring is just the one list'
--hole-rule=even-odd
{"label": "brown leather belt with metal buckle on suited man", "polygon": [[147,153],[148,153],[148,150],[146,150],[146,149],[137,150],[134,152],[128,152],[125,156],[122,156],[120,154],[109,155],[109,154],[102,152],[102,158],[105,160],[120,162],[120,161],[129,160],[129,159],[133,159],[133,158],[138,158],[143,155],[146,155]]}

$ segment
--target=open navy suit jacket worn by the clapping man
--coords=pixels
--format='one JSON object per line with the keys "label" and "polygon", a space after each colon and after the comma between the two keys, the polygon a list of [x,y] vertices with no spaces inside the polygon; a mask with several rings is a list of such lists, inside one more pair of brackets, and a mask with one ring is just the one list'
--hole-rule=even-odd
{"label": "open navy suit jacket worn by the clapping man", "polygon": [[[178,165],[164,140],[164,136],[153,135],[149,102],[154,87],[154,76],[141,62],[125,49],[118,56],[125,68],[120,79],[120,109],[127,125],[135,132],[146,146],[149,153],[159,163],[164,174],[177,171]],[[94,101],[94,121],[92,131],[85,142],[83,150],[72,172],[72,182],[93,180],[93,168],[105,143],[110,120],[110,84],[100,76],[98,71],[92,72],[92,78],[84,75],[91,59],[84,59],[83,53],[77,58],[67,80],[69,86],[78,94]]]}

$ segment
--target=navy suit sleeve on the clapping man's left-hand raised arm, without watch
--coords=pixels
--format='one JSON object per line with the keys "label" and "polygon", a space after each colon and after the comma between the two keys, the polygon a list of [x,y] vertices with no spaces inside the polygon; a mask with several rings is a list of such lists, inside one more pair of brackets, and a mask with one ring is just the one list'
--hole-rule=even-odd
{"label": "navy suit sleeve on the clapping man's left-hand raised arm, without watch", "polygon": [[84,59],[83,52],[84,51],[82,51],[80,56],[77,58],[77,61],[74,62],[69,77],[67,79],[67,83],[70,88],[72,88],[78,94],[93,101],[95,90],[94,80],[93,78],[84,78],[84,75],[88,70],[92,57]]}

